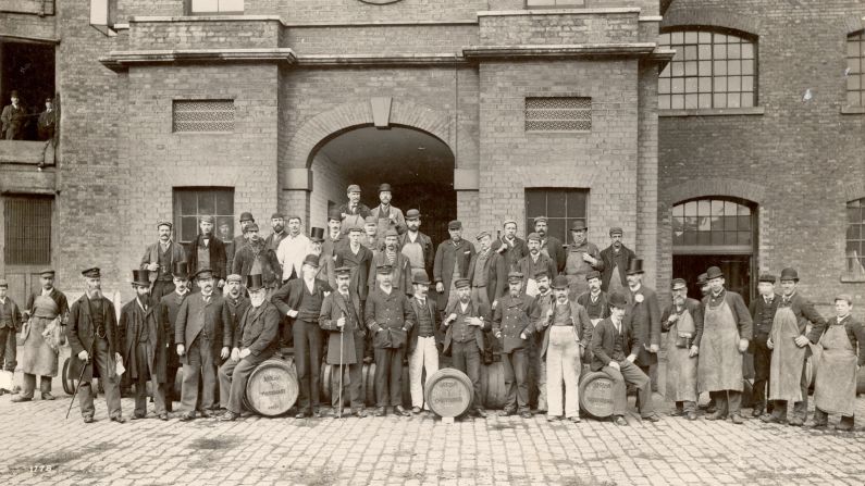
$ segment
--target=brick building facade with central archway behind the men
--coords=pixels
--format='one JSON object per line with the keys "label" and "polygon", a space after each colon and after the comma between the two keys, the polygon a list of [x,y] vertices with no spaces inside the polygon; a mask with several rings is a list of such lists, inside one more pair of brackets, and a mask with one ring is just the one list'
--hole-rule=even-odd
{"label": "brick building facade with central archway behind the men", "polygon": [[[0,142],[0,273],[20,294],[46,264],[73,289],[79,269],[98,264],[106,288],[128,294],[158,219],[175,222],[175,239],[201,212],[230,234],[243,211],[269,233],[276,209],[308,229],[324,226],[347,184],[372,205],[390,182],[394,204],[430,214],[423,229],[436,236],[452,217],[468,237],[506,217],[527,222],[524,235],[542,212],[567,236],[585,219],[602,248],[622,226],[660,289],[674,267],[715,259],[744,272],[745,292],[757,272],[790,264],[819,302],[840,289],[862,302],[845,257],[848,205],[865,198],[865,114],[848,103],[843,75],[849,36],[863,28],[857,1],[0,4],[2,42],[53,49],[60,107],[53,141]],[[104,21],[91,4],[107,7]],[[684,55],[674,59],[663,34],[691,30],[757,47],[756,92],[736,91],[752,105],[659,104],[678,96],[664,79]],[[27,91],[9,83],[3,104],[11,89]],[[399,135],[419,147],[398,146]],[[713,239],[712,222],[730,213],[685,211],[701,199],[739,211],[733,245]],[[34,200],[50,210],[47,256],[22,249],[33,216],[20,208]],[[695,228],[683,227],[692,216]]]}

